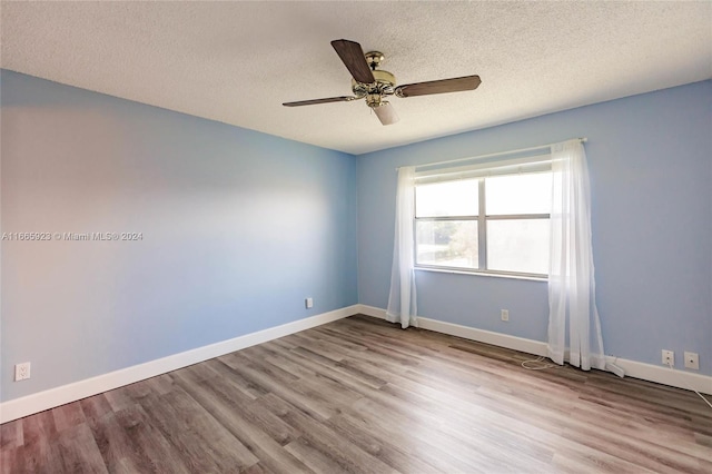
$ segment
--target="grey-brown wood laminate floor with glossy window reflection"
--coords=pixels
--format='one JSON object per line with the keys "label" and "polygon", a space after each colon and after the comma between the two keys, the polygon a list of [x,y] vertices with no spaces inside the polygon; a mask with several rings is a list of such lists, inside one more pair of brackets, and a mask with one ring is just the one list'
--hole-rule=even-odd
{"label": "grey-brown wood laminate floor with glossy window reflection", "polygon": [[712,473],[694,393],[353,316],[0,427],[4,473]]}

